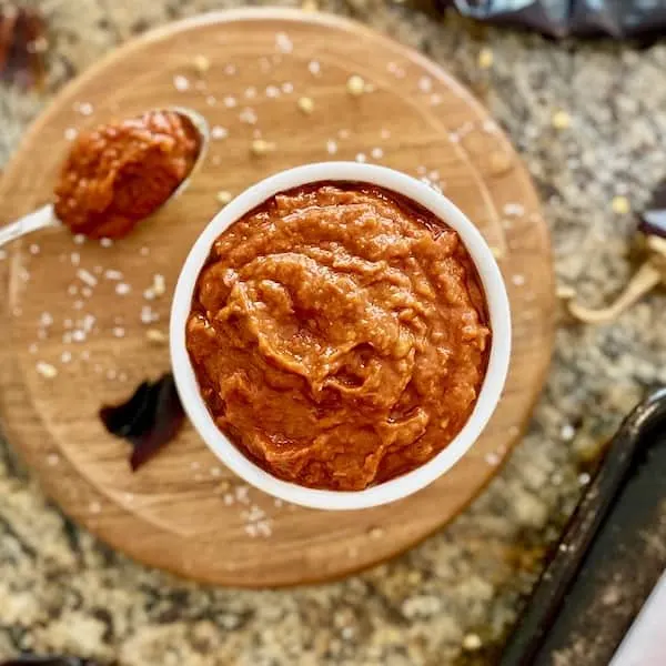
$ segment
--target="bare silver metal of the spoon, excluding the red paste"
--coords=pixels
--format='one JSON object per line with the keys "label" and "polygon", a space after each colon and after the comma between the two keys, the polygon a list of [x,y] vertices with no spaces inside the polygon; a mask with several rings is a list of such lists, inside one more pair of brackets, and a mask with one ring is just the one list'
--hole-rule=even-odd
{"label": "bare silver metal of the spoon, excluding the red paste", "polygon": [[[167,205],[170,201],[175,199],[179,194],[181,194],[190,184],[192,180],[192,175],[196,171],[196,169],[203,162],[203,158],[205,157],[205,152],[208,150],[208,144],[210,141],[210,130],[209,124],[205,118],[201,115],[198,111],[192,109],[186,109],[184,107],[165,107],[161,109],[162,111],[171,111],[178,113],[180,115],[184,115],[196,129],[199,132],[200,139],[200,148],[199,154],[196,155],[196,161],[194,165],[190,170],[190,173],[185,176],[185,179],[181,182],[181,184],[169,195],[169,199],[162,203],[158,210],[162,206]],[[157,211],[153,211],[154,214]],[[0,248],[6,245],[7,243],[14,241],[16,239],[20,239],[28,233],[32,233],[33,231],[38,231],[40,229],[46,229],[48,226],[61,226],[62,223],[56,216],[53,211],[53,204],[48,203],[47,205],[23,215],[19,220],[14,222],[10,222],[8,225],[0,229]]]}

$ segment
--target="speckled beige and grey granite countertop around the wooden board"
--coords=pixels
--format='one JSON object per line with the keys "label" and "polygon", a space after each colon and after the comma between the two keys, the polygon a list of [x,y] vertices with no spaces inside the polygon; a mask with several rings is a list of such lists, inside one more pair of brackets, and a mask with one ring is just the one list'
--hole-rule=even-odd
{"label": "speckled beige and grey granite countertop around the wooden board", "polygon": [[[30,4],[49,23],[50,94],[138,32],[240,2]],[[320,8],[421,49],[472,85],[539,188],[559,283],[591,305],[622,287],[635,221],[612,201],[626,195],[639,209],[666,173],[666,44],[555,43],[381,0]],[[482,48],[491,68],[480,67]],[[0,164],[48,97],[0,88]],[[215,589],[134,564],[68,522],[0,442],[0,656],[32,649],[123,666],[493,664],[586,481],[582,465],[647,387],[666,382],[664,330],[659,293],[612,325],[562,325],[529,432],[483,496],[408,554],[332,585]]]}

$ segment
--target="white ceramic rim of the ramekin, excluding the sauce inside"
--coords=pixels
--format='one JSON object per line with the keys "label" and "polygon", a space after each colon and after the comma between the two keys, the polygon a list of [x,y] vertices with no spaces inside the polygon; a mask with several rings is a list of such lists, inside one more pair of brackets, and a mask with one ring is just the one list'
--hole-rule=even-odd
{"label": "white ceramic rim of the ramekin, excluding the sauce inside", "polygon": [[[273,194],[319,181],[371,183],[397,192],[433,212],[458,232],[483,282],[488,305],[492,343],[488,369],[478,400],[457,436],[427,463],[413,472],[357,492],[320,491],[289,483],[269,474],[245,457],[216,427],[201,397],[185,347],[185,322],[199,273],[215,239],[246,212]],[[323,509],[356,509],[387,504],[425,487],[451,470],[478,438],[495,411],[511,355],[511,315],[506,289],[491,249],[474,224],[443,194],[421,181],[385,167],[356,162],[322,162],[276,173],[245,190],[224,206],[203,230],[181,270],[170,324],[171,361],[185,412],[211,451],[249,484],[302,506]]]}

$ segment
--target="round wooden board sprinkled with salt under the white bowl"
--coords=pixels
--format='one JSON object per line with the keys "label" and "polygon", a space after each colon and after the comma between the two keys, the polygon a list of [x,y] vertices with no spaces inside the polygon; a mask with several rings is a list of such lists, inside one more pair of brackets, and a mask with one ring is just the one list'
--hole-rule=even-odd
{"label": "round wooden board sprinkled with salt under the white bowl", "polygon": [[[196,72],[198,56],[210,62],[205,73]],[[350,95],[352,73],[374,90]],[[311,115],[299,111],[301,95],[314,101]],[[49,200],[72,129],[165,104],[198,109],[229,132],[212,141],[185,194],[111,248],[77,244],[53,229],[17,242],[0,261],[2,340],[11,340],[0,351],[1,413],[10,441],[75,521],[143,563],[200,581],[252,587],[324,581],[405,551],[491,480],[542,387],[553,272],[525,169],[487,112],[418,53],[333,17],[242,10],[151,32],[67,87],[0,183],[0,221]],[[276,150],[256,158],[250,144],[260,132]],[[503,253],[514,354],[504,397],[480,442],[425,491],[363,512],[280,505],[223,470],[189,425],[132,474],[128,445],[105,433],[97,413],[169,369],[167,347],[151,346],[145,332],[165,331],[171,289],[219,208],[216,192],[238,193],[296,164],[363,155],[440,183]],[[97,285],[87,286],[78,269]],[[130,293],[117,293],[107,270],[121,271]],[[157,273],[168,294],[149,302],[143,292]],[[142,323],[145,306],[159,321]],[[82,335],[72,331],[85,322],[90,331],[77,341]],[[41,376],[40,361],[58,375]]]}

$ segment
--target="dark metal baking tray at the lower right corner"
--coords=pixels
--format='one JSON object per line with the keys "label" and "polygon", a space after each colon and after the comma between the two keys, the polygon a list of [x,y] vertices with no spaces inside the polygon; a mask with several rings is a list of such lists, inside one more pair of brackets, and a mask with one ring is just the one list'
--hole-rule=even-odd
{"label": "dark metal baking tray at the lower right corner", "polygon": [[[607,666],[665,568],[666,389],[660,389],[610,442],[500,666]],[[664,632],[666,638],[666,618]]]}

